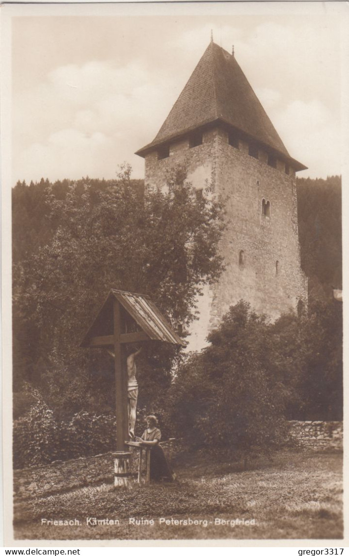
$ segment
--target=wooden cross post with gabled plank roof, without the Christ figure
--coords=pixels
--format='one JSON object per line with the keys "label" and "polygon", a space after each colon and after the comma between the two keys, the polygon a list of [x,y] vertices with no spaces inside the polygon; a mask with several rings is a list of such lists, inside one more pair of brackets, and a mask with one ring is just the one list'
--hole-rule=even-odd
{"label": "wooden cross post with gabled plank roof, without the Christ figure", "polygon": [[185,346],[148,295],[111,290],[89,327],[81,347],[113,347],[116,399],[116,446],[128,440],[126,344],[159,340]]}

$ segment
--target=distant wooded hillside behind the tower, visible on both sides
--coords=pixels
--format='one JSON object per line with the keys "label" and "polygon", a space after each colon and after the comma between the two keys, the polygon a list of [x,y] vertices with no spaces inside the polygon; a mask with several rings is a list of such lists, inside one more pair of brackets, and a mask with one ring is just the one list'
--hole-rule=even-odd
{"label": "distant wooded hillside behind the tower, visible on both sides", "polygon": [[[12,195],[12,257],[13,264],[27,259],[52,239],[58,222],[49,218],[46,193],[50,189],[59,200],[66,196],[72,181],[50,183],[18,182]],[[96,190],[115,186],[113,180],[82,179]],[[131,180],[142,195],[143,180]],[[341,178],[327,180],[297,178],[298,234],[302,269],[308,277],[309,295],[314,299],[328,298],[332,287],[342,287],[342,198]]]}

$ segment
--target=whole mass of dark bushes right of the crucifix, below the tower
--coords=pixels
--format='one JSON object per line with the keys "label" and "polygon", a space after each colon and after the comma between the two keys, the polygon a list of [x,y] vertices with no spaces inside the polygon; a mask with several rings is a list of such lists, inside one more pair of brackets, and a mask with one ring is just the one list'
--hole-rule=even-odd
{"label": "whole mass of dark bushes right of the crucifix, below the tower", "polygon": [[277,446],[286,419],[342,419],[341,304],[270,323],[240,301],[209,345],[180,366],[169,400],[176,434],[244,454]]}

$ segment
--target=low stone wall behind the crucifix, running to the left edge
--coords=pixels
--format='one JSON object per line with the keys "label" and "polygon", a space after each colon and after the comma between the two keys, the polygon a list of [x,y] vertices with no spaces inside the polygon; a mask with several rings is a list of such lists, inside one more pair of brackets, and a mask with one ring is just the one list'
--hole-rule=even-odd
{"label": "low stone wall behind the crucifix, running to the left edge", "polygon": [[[178,441],[161,443],[171,460],[179,449]],[[130,451],[133,451],[132,449]],[[133,451],[131,470],[138,469],[139,452]],[[114,482],[114,453],[99,454],[88,458],[54,461],[49,465],[15,469],[13,471],[14,500],[46,497],[58,492],[73,490],[87,485]]]}

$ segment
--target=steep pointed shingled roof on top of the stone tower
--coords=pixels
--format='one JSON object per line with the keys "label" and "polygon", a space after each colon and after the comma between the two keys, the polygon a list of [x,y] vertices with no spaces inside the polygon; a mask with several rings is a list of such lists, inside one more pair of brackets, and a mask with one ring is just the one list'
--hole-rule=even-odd
{"label": "steep pointed shingled roof on top of the stone tower", "polygon": [[214,42],[206,48],[157,136],[136,154],[144,156],[162,143],[216,121],[296,162],[299,170],[305,168],[288,154],[235,57]]}

